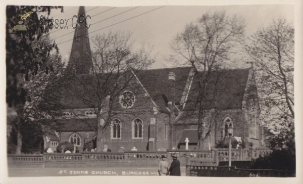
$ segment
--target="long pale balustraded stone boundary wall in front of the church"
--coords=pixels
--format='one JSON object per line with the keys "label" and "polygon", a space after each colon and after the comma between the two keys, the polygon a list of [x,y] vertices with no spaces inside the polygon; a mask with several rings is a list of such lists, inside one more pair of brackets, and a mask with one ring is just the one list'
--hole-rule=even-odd
{"label": "long pale balustraded stone boundary wall in front of the church", "polygon": [[[266,155],[271,150],[232,149],[232,160],[251,160]],[[244,157],[244,153],[250,157]],[[83,153],[44,153],[42,155],[8,155],[9,167],[57,168],[57,167],[111,167],[111,166],[158,166],[161,155],[172,162],[175,154],[181,166],[190,162],[194,165],[218,166],[228,158],[228,149],[213,150],[167,150],[167,151],[129,151],[129,152],[83,152]]]}

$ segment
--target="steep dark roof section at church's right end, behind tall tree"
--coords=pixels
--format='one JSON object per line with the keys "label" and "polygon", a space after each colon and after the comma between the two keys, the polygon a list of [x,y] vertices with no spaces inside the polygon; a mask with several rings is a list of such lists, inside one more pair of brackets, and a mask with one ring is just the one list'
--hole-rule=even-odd
{"label": "steep dark roof section at church's right end, behind tall tree", "polygon": [[[220,70],[211,73],[203,98],[204,109],[213,109],[217,102],[218,109],[241,109],[249,69]],[[196,105],[198,78],[194,77],[184,110],[198,108]],[[215,95],[217,91],[217,95]]]}

